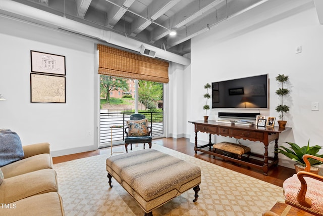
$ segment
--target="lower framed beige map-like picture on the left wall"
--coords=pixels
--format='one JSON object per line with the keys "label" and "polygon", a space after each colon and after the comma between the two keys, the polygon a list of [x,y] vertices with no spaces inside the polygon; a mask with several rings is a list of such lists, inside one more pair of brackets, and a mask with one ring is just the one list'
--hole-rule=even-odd
{"label": "lower framed beige map-like picture on the left wall", "polygon": [[66,103],[65,77],[30,73],[31,103]]}

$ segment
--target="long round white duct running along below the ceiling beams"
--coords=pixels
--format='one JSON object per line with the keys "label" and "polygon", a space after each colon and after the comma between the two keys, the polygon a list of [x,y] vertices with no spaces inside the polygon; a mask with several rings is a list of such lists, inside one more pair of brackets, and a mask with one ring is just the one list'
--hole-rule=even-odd
{"label": "long round white duct running along below the ceiling beams", "polygon": [[157,58],[165,59],[182,65],[189,65],[191,63],[191,60],[188,58],[148,44],[144,44],[141,41],[132,39],[130,37],[125,37],[124,35],[115,33],[113,31],[98,29],[83,23],[76,22],[74,20],[70,20],[33,7],[13,2],[11,0],[0,1],[0,12],[6,12],[5,14],[7,15],[49,27],[56,26],[56,28],[59,29],[65,29],[90,37],[95,37],[110,44],[114,44],[119,47],[124,47],[137,52],[140,52],[141,46],[144,45],[146,48],[155,51],[155,57]]}

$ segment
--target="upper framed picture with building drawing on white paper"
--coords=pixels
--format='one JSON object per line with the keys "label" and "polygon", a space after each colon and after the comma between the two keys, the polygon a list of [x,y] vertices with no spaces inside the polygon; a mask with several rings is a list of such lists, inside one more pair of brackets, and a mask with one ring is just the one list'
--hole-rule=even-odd
{"label": "upper framed picture with building drawing on white paper", "polygon": [[65,56],[30,51],[31,72],[66,75]]}

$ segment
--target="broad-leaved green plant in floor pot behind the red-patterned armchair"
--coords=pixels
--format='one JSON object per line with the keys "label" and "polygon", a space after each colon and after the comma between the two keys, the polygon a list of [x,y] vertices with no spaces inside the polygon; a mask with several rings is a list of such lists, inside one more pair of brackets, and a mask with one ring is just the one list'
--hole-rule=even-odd
{"label": "broad-leaved green plant in floor pot behind the red-patterned armchair", "polygon": [[[321,155],[317,154],[318,151],[322,148],[322,146],[318,146],[318,145],[309,146],[309,140],[308,140],[307,146],[303,146],[303,147],[298,146],[296,143],[291,143],[291,142],[286,142],[286,143],[289,144],[290,147],[287,148],[284,146],[280,146],[278,147],[277,152],[297,162],[295,164],[296,173],[300,170],[304,170],[305,168],[303,155],[310,154],[316,157],[323,158],[323,154]],[[318,174],[319,170],[314,165],[322,164],[322,162],[312,158],[309,158],[308,161],[311,164],[311,172],[315,172],[316,174]]]}

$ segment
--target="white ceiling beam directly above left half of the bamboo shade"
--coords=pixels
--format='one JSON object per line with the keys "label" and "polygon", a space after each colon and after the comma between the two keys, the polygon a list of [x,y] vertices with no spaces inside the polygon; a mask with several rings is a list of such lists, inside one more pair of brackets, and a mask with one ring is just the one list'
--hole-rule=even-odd
{"label": "white ceiling beam directly above left half of the bamboo shade", "polygon": [[[110,1],[106,1],[110,2]],[[123,17],[123,15],[127,12],[127,9],[135,2],[135,0],[122,0],[121,6],[113,6],[111,10],[107,12],[107,26],[113,28],[117,22]],[[111,3],[111,2],[110,2]]]}

